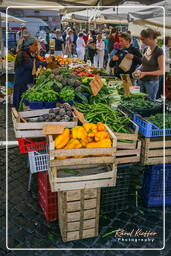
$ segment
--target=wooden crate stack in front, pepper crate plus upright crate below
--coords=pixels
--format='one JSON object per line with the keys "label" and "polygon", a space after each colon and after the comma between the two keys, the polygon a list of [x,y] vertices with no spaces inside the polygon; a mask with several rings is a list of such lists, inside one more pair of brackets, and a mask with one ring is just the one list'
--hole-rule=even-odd
{"label": "wooden crate stack in front, pepper crate plus upright crate below", "polygon": [[[53,136],[48,136],[49,181],[51,191],[58,192],[59,227],[64,242],[98,235],[100,188],[115,186],[117,174],[117,139],[107,126],[106,129],[111,148],[55,149]],[[80,155],[84,157],[75,158]],[[69,158],[60,159],[62,156]]]}

